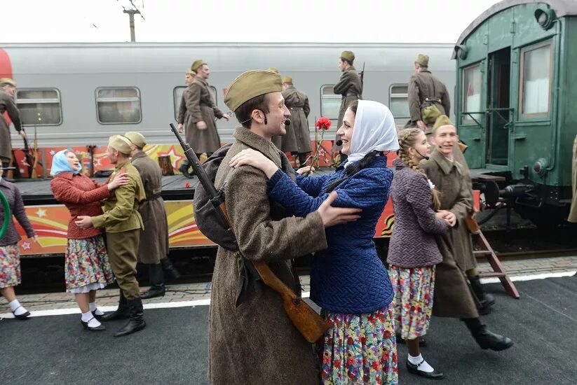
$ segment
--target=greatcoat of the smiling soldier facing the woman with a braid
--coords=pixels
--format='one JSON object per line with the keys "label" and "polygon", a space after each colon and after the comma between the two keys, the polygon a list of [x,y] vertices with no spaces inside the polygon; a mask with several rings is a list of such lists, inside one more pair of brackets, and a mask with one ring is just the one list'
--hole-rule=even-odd
{"label": "greatcoat of the smiling soldier facing the woman with a braid", "polygon": [[473,197],[459,162],[449,162],[433,151],[429,160],[421,162],[421,169],[439,192],[442,210],[455,214],[457,223],[437,244],[443,256],[435,274],[433,311],[436,316],[475,318],[479,316],[475,297],[466,281],[465,271],[476,266],[473,244],[465,218],[473,209]]}

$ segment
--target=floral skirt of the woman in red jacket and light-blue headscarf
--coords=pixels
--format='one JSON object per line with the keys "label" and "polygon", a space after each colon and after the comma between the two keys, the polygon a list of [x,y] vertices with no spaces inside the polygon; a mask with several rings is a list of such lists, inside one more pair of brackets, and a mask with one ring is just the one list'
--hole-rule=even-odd
{"label": "floral skirt of the woman in red jacket and light-blue headscarf", "polygon": [[68,239],[65,278],[68,293],[88,293],[114,282],[102,236]]}

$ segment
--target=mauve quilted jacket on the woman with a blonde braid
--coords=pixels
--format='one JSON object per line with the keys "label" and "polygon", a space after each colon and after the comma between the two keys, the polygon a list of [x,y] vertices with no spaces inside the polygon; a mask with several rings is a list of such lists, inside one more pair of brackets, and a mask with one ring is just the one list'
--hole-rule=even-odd
{"label": "mauve quilted jacket on the woman with a blonde braid", "polygon": [[391,199],[395,227],[388,244],[387,262],[405,268],[436,265],[442,261],[442,255],[435,234],[447,231],[447,223],[435,217],[425,174],[414,172],[400,159],[393,160],[393,165]]}

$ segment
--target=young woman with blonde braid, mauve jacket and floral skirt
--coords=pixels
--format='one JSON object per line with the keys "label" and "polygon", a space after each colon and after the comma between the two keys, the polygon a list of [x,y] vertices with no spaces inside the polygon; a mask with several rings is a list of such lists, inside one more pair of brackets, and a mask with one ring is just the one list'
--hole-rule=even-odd
{"label": "young woman with blonde braid, mauve jacket and floral skirt", "polygon": [[395,292],[395,328],[407,342],[407,370],[440,379],[443,374],[421,356],[419,337],[426,334],[430,323],[435,265],[442,261],[435,235],[446,232],[456,218],[449,211],[435,212],[439,199],[433,184],[419,169],[419,162],[430,155],[423,130],[409,128],[400,131],[398,137],[398,158],[393,160],[395,178],[391,183],[395,227],[387,258]]}

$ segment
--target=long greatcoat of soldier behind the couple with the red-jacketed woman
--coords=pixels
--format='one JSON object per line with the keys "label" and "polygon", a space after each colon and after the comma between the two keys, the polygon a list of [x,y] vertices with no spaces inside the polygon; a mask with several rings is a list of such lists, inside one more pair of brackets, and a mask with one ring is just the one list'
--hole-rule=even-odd
{"label": "long greatcoat of soldier behind the couple with the red-jacketed woman", "polygon": [[144,223],[144,230],[140,232],[138,262],[156,265],[168,253],[168,220],[161,197],[161,167],[144,151],[136,153],[131,162],[140,174],[147,195],[147,200],[138,207]]}

